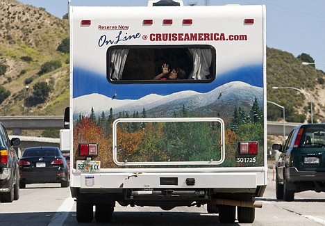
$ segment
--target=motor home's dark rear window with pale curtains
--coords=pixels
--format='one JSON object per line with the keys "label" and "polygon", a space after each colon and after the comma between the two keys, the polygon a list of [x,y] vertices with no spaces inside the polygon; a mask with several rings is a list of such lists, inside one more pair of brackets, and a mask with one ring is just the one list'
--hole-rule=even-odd
{"label": "motor home's dark rear window with pale curtains", "polygon": [[[107,51],[107,77],[113,83],[211,82],[215,79],[215,49],[211,46],[127,46]],[[181,68],[184,76],[177,80],[153,80],[163,72]],[[166,76],[167,77],[167,76]]]}

